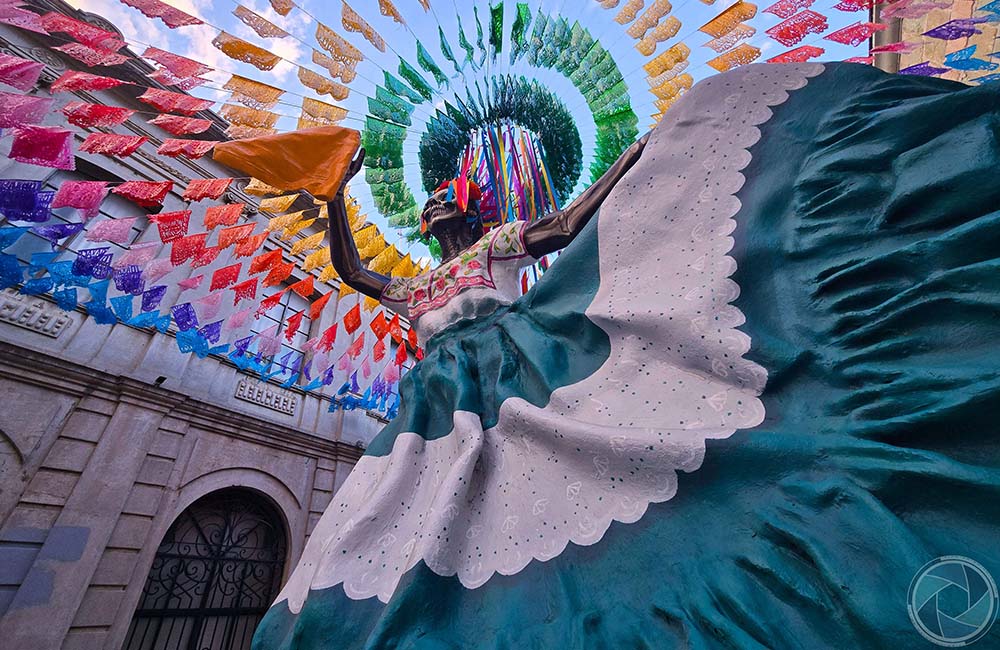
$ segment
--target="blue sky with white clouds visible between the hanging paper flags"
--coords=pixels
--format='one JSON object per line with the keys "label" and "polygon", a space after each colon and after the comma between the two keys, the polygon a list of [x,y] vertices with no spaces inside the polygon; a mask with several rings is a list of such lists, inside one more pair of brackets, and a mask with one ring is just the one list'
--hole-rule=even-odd
{"label": "blue sky with white clouds visible between the hanging paper flags", "polygon": [[[301,10],[299,8],[292,9],[288,16],[277,14],[271,8],[268,0],[240,0],[241,4],[292,35],[283,39],[261,39],[249,27],[235,18],[232,11],[237,6],[236,0],[166,0],[168,4],[197,16],[207,23],[206,25],[180,27],[174,30],[167,28],[159,20],[146,18],[139,11],[122,4],[119,0],[67,1],[84,11],[104,16],[117,25],[133,50],[141,52],[146,45],[153,45],[211,66],[214,68],[214,72],[206,76],[212,79],[211,85],[216,88],[221,88],[231,74],[239,74],[286,89],[288,92],[282,98],[282,103],[273,109],[286,116],[278,122],[278,128],[281,130],[295,128],[303,96],[330,101],[328,96],[318,97],[311,90],[304,88],[296,78],[295,67],[288,62],[296,61],[314,70],[322,71],[322,68],[317,68],[310,62],[310,50],[315,44],[314,34],[316,31],[313,17],[347,37],[366,55],[366,60],[358,65],[358,78],[350,85],[351,96],[344,102],[338,102],[351,111],[350,116],[343,124],[360,130],[367,112],[366,98],[374,96],[376,82],[380,83],[382,80],[383,68],[395,73],[398,66],[397,57],[402,57],[415,65],[416,42],[419,38],[424,47],[435,58],[438,66],[446,73],[454,73],[454,68],[444,59],[439,49],[438,27],[440,26],[444,30],[455,55],[464,55],[458,46],[457,16],[461,13],[466,36],[475,43],[475,19],[472,7],[473,5],[478,6],[480,19],[488,34],[488,27],[485,23],[489,17],[490,2],[490,0],[429,0],[432,11],[425,12],[419,0],[393,0],[396,8],[407,22],[404,27],[379,13],[378,0],[353,0],[349,3],[350,6],[387,42],[386,53],[381,53],[365,41],[360,34],[346,33],[342,29],[340,22],[341,3],[336,0],[298,0],[297,4]],[[625,2],[626,0],[621,0],[622,5]],[[646,4],[649,5],[651,2]],[[656,53],[659,54],[670,45],[683,40],[691,48],[688,72],[695,80],[714,74],[715,71],[705,65],[705,62],[716,56],[716,53],[703,47],[703,44],[710,37],[697,32],[697,28],[730,4],[729,0],[716,0],[713,5],[705,4],[704,0],[677,0],[674,2],[670,15],[678,17],[683,27],[676,38],[661,43]],[[769,4],[770,2],[759,5],[758,14],[751,22],[757,28],[757,34],[746,41],[762,50],[761,60],[789,49],[770,39],[764,33],[765,29],[781,21],[777,16],[760,11]],[[833,8],[834,4],[836,4],[834,0],[816,0],[811,7],[829,18],[831,30],[867,19],[863,12],[844,13],[838,11]],[[595,137],[593,118],[587,109],[583,96],[559,72],[534,68],[527,64],[525,57],[522,57],[513,66],[509,65],[510,26],[514,21],[516,6],[513,0],[507,0],[504,5],[504,54],[498,59],[498,65],[490,72],[493,74],[524,75],[528,78],[538,79],[560,97],[570,109],[583,142],[584,172],[576,189],[577,192],[581,191],[585,187],[586,180],[589,179],[587,169],[593,159]],[[649,116],[656,112],[653,104],[655,97],[648,92],[645,72],[642,70],[642,65],[649,59],[633,47],[634,41],[625,33],[627,25],[622,26],[614,22],[613,18],[618,9],[604,9],[597,0],[529,0],[528,5],[532,9],[533,16],[541,7],[542,11],[549,15],[560,14],[569,19],[570,23],[578,20],[584,27],[588,28],[591,35],[597,38],[618,62],[619,69],[630,89],[632,107],[639,116],[640,132],[650,126]],[[256,45],[265,46],[285,61],[279,63],[270,72],[261,72],[250,65],[234,61],[212,45],[212,39],[218,34],[217,28]],[[820,60],[841,60],[866,53],[864,44],[857,48],[850,48],[821,40],[819,36],[815,35],[806,38],[801,45],[816,45],[825,48],[826,55]],[[471,83],[477,78],[484,79],[486,71],[474,72],[470,68],[466,68],[464,75],[463,79],[462,75],[454,73],[450,86],[464,91],[464,82]],[[196,88],[192,94],[220,102],[216,108],[221,106],[222,101],[228,96],[226,91],[208,87]],[[451,100],[452,97],[454,97],[454,91],[451,88],[445,88],[440,96],[435,97],[436,106],[443,107],[443,102],[446,99]],[[417,151],[420,136],[430,114],[431,109],[427,104],[416,109],[413,116],[414,124],[409,128],[407,140],[403,145],[406,180],[418,204],[426,199],[426,194],[421,189]],[[351,190],[368,211],[369,220],[386,230],[385,219],[377,215],[371,200],[371,193],[365,184],[355,181]],[[387,233],[386,239],[393,241],[389,233]],[[396,243],[400,250],[409,246],[401,241]],[[426,249],[420,245],[417,245],[412,252],[416,257],[426,255]]]}

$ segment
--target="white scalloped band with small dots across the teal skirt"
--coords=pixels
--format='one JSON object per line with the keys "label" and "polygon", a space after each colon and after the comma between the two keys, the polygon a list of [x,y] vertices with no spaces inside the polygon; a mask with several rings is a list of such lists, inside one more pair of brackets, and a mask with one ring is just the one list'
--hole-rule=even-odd
{"label": "white scalloped band with small dots across the teal skirt", "polygon": [[735,194],[758,125],[822,71],[746,66],[685,95],[602,208],[613,218],[598,223],[587,315],[611,339],[607,362],[543,408],[508,399],[489,430],[456,412],[444,438],[405,433],[389,456],[362,458],[278,601],[298,612],[309,589],[343,584],[388,602],[421,560],[479,587],[638,521],[701,466],[705,440],[760,424],[767,373],[743,358],[750,338],[730,304]]}

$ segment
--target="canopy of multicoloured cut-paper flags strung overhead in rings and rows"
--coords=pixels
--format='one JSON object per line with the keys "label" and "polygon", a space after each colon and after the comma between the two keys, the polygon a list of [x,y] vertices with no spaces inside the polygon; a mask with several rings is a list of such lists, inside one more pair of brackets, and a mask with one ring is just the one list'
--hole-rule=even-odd
{"label": "canopy of multicoloured cut-paper flags strung overhead in rings and rows", "polygon": [[[1000,79],[1000,0],[351,0],[315,14],[233,0],[198,16],[120,1],[124,33],[2,3],[0,23],[51,52],[0,54],[0,128],[26,179],[0,181],[0,286],[388,417],[419,342],[339,282],[326,206],[249,178],[27,179],[65,178],[77,157],[196,160],[226,139],[349,126],[367,151],[348,206],[358,249],[372,270],[414,276],[434,263],[419,217],[442,182],[475,180],[489,224],[543,218],[711,74],[891,53],[904,74]],[[872,49],[895,18],[919,36]],[[111,196],[135,214],[102,212]]]}

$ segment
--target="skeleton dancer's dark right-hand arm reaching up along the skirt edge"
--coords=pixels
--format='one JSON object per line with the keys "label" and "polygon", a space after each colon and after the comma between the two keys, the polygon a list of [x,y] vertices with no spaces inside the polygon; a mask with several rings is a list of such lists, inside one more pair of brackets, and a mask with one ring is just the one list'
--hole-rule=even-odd
{"label": "skeleton dancer's dark right-hand arm reaching up along the skirt edge", "polygon": [[647,133],[626,149],[596,183],[566,208],[539,219],[524,230],[524,243],[532,257],[542,257],[563,249],[580,234],[583,227],[597,214],[611,189],[638,162],[649,135]]}

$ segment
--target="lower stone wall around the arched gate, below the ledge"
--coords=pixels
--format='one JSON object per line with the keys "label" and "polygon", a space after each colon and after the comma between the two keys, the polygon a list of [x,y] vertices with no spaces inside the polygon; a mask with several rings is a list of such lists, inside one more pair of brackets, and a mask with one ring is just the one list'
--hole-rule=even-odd
{"label": "lower stone wall around the arched gate, below the ledge", "polygon": [[216,490],[249,488],[277,507],[287,575],[361,453],[6,343],[0,377],[5,647],[120,647],[164,533]]}

